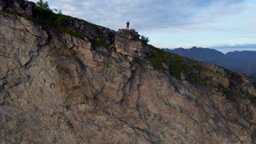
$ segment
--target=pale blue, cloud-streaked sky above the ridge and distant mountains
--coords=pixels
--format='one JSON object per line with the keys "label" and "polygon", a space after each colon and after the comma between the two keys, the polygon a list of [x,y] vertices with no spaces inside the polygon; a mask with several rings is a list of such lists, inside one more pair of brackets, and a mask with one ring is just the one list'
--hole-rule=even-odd
{"label": "pale blue, cloud-streaked sky above the ridge and distant mountains", "polygon": [[[33,0],[37,2],[38,0]],[[256,0],[48,0],[51,9],[118,31],[136,29],[160,48],[256,51]]]}

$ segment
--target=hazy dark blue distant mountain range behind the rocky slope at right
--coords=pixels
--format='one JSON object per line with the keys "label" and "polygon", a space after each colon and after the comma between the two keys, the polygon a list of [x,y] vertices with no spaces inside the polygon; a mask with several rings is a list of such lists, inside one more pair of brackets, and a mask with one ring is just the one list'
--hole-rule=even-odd
{"label": "hazy dark blue distant mountain range behind the rocky slope at right", "polygon": [[234,51],[226,54],[208,48],[192,47],[191,49],[163,49],[179,56],[212,63],[232,71],[241,71],[256,79],[256,51]]}

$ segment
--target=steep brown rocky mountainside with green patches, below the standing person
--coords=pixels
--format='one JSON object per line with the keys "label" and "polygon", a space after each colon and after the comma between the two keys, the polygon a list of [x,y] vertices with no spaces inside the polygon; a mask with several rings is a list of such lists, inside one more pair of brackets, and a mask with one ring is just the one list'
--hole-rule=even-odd
{"label": "steep brown rocky mountainside with green patches, below the standing person", "polygon": [[0,143],[256,143],[255,81],[0,1]]}

